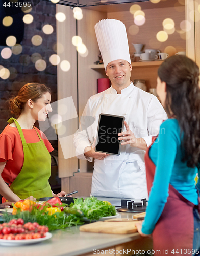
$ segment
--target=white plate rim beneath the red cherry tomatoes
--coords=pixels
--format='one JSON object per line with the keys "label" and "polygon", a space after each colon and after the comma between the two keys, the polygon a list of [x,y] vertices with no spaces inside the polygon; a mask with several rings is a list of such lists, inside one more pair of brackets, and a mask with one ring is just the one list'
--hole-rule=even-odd
{"label": "white plate rim beneath the red cherry tomatoes", "polygon": [[22,240],[7,240],[7,239],[0,239],[0,245],[6,246],[19,246],[19,245],[26,245],[26,244],[35,244],[40,243],[44,240],[47,240],[52,237],[52,234],[47,232],[45,238],[35,238],[35,239],[22,239]]}

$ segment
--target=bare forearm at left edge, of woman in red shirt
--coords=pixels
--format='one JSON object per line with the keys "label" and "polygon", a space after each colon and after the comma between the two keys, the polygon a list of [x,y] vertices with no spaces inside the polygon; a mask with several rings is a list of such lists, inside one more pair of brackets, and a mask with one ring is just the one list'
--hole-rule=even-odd
{"label": "bare forearm at left edge, of woman in red shirt", "polygon": [[4,170],[4,167],[6,165],[6,162],[0,163],[0,194],[5,197],[10,202],[17,202],[21,200],[17,195],[13,193],[13,191],[10,190],[6,182],[3,180],[1,174]]}

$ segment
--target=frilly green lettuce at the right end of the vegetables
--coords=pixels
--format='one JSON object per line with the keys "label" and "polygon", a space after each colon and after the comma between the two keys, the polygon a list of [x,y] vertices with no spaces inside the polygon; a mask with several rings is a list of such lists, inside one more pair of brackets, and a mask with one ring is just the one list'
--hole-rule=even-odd
{"label": "frilly green lettuce at the right end of the vegetables", "polygon": [[116,215],[115,207],[107,201],[97,200],[95,197],[74,199],[70,204],[71,208],[83,211],[84,216],[90,220],[99,220],[102,217]]}

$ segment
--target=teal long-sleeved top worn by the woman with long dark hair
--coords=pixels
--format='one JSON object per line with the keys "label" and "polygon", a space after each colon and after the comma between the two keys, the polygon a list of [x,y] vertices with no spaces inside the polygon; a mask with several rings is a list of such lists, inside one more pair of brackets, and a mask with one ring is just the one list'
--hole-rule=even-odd
{"label": "teal long-sleeved top worn by the woman with long dark hair", "polygon": [[[167,119],[160,126],[158,138],[149,150],[156,165],[153,186],[149,194],[142,233],[151,234],[167,202],[169,183],[193,204],[198,204],[194,178],[198,169],[182,162],[180,127],[177,119]],[[198,173],[199,174],[199,173]],[[199,176],[199,175],[198,175]],[[200,191],[199,180],[197,188]]]}

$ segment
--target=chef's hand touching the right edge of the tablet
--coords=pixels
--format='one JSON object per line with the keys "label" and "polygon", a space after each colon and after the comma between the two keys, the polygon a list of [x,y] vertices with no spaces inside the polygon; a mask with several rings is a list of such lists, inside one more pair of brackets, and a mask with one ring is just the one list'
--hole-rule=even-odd
{"label": "chef's hand touching the right edge of the tablet", "polygon": [[147,145],[146,145],[145,140],[143,138],[136,138],[134,133],[129,128],[129,125],[127,124],[126,121],[124,121],[124,125],[125,125],[127,131],[118,133],[118,136],[122,136],[122,137],[119,137],[118,140],[124,140],[124,142],[122,142],[121,145],[130,144],[130,146],[138,147],[141,150],[146,150]]}

